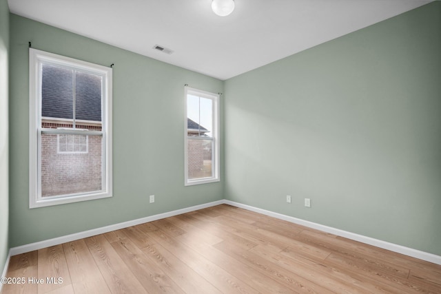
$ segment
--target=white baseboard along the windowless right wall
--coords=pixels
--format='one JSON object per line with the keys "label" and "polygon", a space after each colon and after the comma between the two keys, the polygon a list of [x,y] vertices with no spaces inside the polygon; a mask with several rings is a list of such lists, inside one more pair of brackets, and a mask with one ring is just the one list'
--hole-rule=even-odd
{"label": "white baseboard along the windowless right wall", "polygon": [[286,220],[288,222],[294,222],[295,224],[300,224],[302,226],[305,227],[309,227],[311,229],[317,229],[319,231],[324,231],[326,233],[332,233],[334,235],[338,235],[340,237],[344,237],[344,238],[348,238],[351,240],[356,240],[358,242],[362,242],[365,244],[369,244],[372,246],[377,246],[380,247],[382,249],[387,249],[396,253],[401,253],[404,255],[408,255],[411,256],[413,258],[418,258],[420,260],[426,260],[427,262],[432,262],[434,264],[440,264],[441,265],[441,256],[440,255],[435,255],[432,253],[427,253],[424,251],[419,251],[416,249],[411,249],[409,247],[405,247],[405,246],[401,246],[398,244],[393,244],[393,243],[389,243],[389,242],[385,242],[382,240],[378,240],[378,239],[374,239],[374,238],[370,238],[364,235],[358,235],[356,233],[351,233],[348,231],[343,231],[340,229],[336,229],[333,227],[327,227],[325,225],[322,224],[317,224],[315,222],[309,222],[307,220],[301,220],[300,218],[294,218],[292,216],[285,216],[284,214],[281,213],[276,213],[276,212],[272,212],[272,211],[267,211],[265,209],[260,209],[257,207],[252,207],[246,204],[240,204],[238,202],[234,202],[234,201],[230,201],[230,200],[224,200],[223,201],[225,204],[229,204],[232,205],[234,207],[239,207],[242,209],[247,209],[249,211],[254,211],[257,213],[261,213],[261,214],[265,214],[265,216],[272,216],[273,218],[278,218],[280,220]]}

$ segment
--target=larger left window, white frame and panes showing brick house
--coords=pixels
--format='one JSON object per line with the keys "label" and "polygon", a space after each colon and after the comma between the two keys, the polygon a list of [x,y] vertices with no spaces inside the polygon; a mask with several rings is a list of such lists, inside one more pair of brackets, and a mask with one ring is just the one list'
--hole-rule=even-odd
{"label": "larger left window, white frame and panes showing brick house", "polygon": [[112,68],[30,49],[30,208],[112,196]]}

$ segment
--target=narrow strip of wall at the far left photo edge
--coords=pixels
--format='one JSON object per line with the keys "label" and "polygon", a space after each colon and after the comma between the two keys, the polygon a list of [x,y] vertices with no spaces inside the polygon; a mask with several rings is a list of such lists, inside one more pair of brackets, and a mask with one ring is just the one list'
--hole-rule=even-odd
{"label": "narrow strip of wall at the far left photo edge", "polygon": [[8,49],[8,1],[0,0],[0,274],[3,271],[9,251]]}

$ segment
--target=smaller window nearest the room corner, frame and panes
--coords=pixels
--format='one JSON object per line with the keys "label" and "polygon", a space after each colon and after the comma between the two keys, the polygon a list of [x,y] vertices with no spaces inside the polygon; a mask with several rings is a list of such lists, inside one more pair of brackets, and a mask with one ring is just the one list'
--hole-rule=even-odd
{"label": "smaller window nearest the room corner, frame and panes", "polygon": [[218,100],[185,87],[185,185],[219,181]]}

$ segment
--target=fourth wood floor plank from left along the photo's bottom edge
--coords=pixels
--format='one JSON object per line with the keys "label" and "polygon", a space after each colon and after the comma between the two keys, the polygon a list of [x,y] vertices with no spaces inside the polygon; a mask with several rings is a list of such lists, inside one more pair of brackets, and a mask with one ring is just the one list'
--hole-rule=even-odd
{"label": "fourth wood floor plank from left along the photo's bottom edge", "polygon": [[112,293],[148,293],[104,235],[85,238],[85,243]]}

